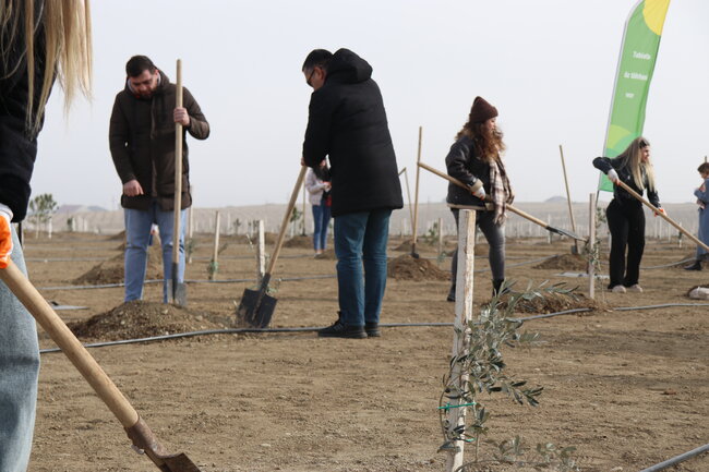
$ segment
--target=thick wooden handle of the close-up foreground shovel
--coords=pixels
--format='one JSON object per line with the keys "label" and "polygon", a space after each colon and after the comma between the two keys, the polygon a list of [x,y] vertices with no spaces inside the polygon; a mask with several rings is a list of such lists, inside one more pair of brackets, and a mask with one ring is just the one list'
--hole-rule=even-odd
{"label": "thick wooden handle of the close-up foreground shovel", "polygon": [[17,266],[10,262],[7,268],[0,269],[0,279],[74,364],[123,427],[134,426],[139,421],[135,409]]}

